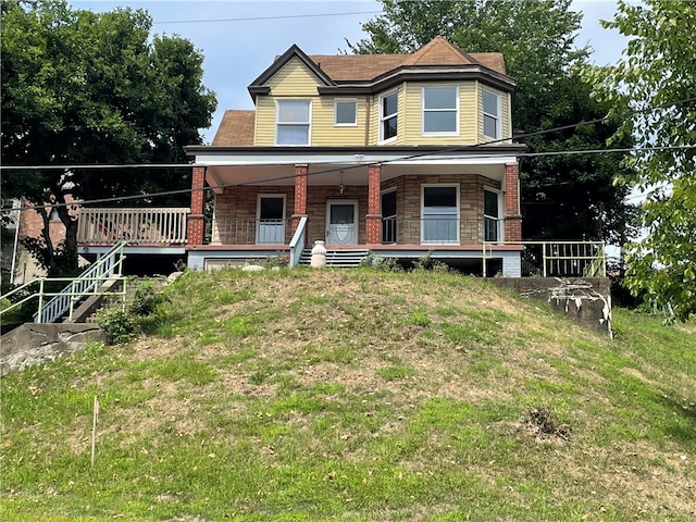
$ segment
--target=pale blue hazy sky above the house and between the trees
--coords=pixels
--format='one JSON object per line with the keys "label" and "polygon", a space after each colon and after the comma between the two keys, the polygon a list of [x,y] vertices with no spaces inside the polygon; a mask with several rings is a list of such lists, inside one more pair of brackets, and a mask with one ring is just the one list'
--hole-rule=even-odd
{"label": "pale blue hazy sky above the house and between the trees", "polygon": [[[147,10],[153,33],[189,39],[206,58],[206,87],[217,96],[211,128],[203,132],[210,142],[225,109],[252,109],[247,86],[276,54],[297,44],[308,54],[333,54],[350,41],[364,37],[361,23],[376,16],[381,4],[373,0],[243,1],[243,0],[73,0],[76,9],[111,11],[116,7]],[[576,44],[589,44],[597,64],[614,62],[625,47],[623,38],[599,26],[611,20],[613,0],[574,0],[583,12],[583,28]]]}

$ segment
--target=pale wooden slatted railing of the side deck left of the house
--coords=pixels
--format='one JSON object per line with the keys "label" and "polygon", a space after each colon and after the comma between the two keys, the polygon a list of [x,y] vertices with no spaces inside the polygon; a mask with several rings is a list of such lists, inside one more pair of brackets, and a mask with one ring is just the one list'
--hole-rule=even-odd
{"label": "pale wooden slatted railing of the side deck left of the house", "polygon": [[80,245],[128,244],[183,245],[189,209],[89,209],[79,211]]}

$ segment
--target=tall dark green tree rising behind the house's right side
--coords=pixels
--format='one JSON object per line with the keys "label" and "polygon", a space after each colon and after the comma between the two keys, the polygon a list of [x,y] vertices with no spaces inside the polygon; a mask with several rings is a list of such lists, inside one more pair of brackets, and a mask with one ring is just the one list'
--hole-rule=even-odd
{"label": "tall dark green tree rising behind the house's right side", "polygon": [[[589,50],[574,38],[582,15],[571,0],[382,0],[384,14],[363,24],[353,52],[413,52],[439,35],[467,52],[502,52],[517,78],[512,122],[524,133],[604,116],[609,104],[589,98],[576,72]],[[616,125],[598,123],[525,139],[529,152],[601,149]],[[631,145],[631,137],[623,146]],[[613,185],[621,154],[557,156],[521,162],[526,239],[621,240],[630,235],[627,190]]]}

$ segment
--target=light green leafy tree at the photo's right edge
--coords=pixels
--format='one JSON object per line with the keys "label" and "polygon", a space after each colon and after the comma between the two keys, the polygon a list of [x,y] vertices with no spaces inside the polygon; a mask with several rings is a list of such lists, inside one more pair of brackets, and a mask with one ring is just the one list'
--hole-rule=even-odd
{"label": "light green leafy tree at the photo's right edge", "polygon": [[626,279],[680,320],[696,313],[696,4],[619,2],[605,27],[630,38],[616,65],[595,69],[599,99],[624,97],[612,113],[622,120],[614,139],[635,137],[643,148],[618,179],[646,195],[647,237],[630,245]]}

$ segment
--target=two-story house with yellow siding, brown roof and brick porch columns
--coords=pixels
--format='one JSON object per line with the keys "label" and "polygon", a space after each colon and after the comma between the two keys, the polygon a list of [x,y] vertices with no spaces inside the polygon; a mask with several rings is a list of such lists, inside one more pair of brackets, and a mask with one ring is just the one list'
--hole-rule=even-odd
{"label": "two-story house with yellow siding, brown roof and brick porch columns", "polygon": [[[437,37],[413,54],[308,55],[293,46],[191,146],[188,264],[311,248],[520,275],[514,79],[500,53]],[[203,243],[203,192],[214,192]],[[484,248],[485,246],[485,248]],[[485,250],[485,251],[484,251]]]}

